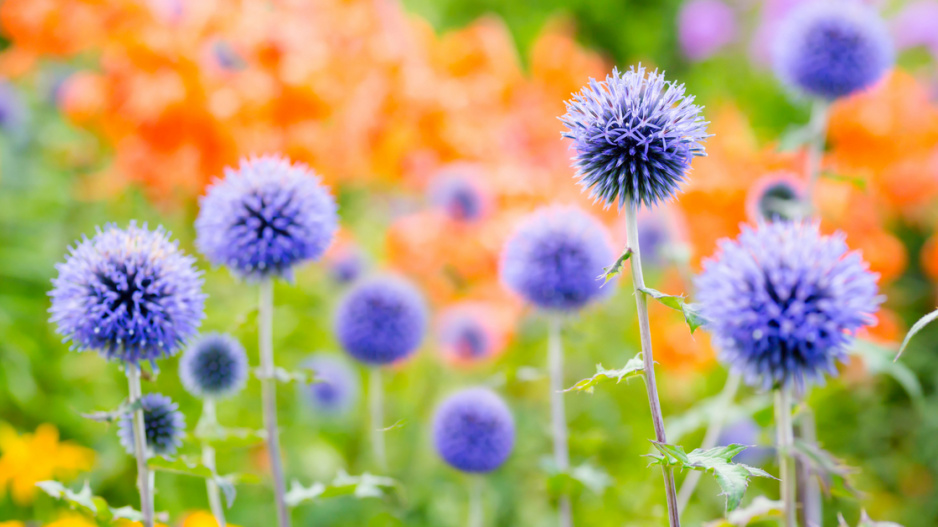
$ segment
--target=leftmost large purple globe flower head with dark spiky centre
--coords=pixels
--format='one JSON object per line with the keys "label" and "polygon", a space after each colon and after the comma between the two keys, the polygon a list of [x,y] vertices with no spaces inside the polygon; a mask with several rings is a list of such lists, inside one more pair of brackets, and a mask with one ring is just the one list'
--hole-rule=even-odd
{"label": "leftmost large purple globe flower head with dark spiky centre", "polygon": [[201,272],[162,227],[107,225],[56,265],[50,320],[79,351],[137,365],[173,355],[204,316]]}

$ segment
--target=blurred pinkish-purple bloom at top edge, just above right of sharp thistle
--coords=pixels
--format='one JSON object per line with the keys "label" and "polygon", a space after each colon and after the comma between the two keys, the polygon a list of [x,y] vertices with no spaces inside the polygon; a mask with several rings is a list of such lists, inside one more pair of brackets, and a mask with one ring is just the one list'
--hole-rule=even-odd
{"label": "blurred pinkish-purple bloom at top edge, just above right of sharp thistle", "polygon": [[690,0],[677,17],[681,51],[690,60],[706,60],[736,39],[736,13],[720,0]]}

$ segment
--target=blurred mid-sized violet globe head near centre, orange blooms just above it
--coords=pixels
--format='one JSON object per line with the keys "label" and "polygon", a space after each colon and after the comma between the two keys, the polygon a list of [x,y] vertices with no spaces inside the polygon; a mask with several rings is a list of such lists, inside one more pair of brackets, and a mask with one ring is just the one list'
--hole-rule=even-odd
{"label": "blurred mid-sized violet globe head near centre, orange blooms just above it", "polygon": [[423,298],[394,276],[353,286],[336,309],[335,333],[355,360],[372,366],[404,359],[420,346],[427,327]]}

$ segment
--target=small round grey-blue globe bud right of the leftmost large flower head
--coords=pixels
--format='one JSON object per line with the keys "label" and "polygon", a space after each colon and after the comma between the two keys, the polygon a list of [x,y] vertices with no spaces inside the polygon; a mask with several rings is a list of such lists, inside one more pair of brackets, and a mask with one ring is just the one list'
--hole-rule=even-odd
{"label": "small round grey-blue globe bud right of the leftmost large flower head", "polygon": [[179,359],[179,377],[196,397],[221,399],[244,388],[248,358],[231,335],[208,333],[189,345]]}

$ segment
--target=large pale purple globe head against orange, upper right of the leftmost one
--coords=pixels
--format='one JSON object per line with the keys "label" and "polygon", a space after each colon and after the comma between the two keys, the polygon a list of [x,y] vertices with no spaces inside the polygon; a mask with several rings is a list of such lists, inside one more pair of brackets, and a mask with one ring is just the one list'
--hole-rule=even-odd
{"label": "large pale purple globe head against orange, upper right of the leftmost one", "polygon": [[202,198],[196,245],[248,280],[292,277],[319,258],[338,227],[336,205],[306,165],[278,156],[242,160]]}

